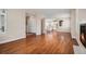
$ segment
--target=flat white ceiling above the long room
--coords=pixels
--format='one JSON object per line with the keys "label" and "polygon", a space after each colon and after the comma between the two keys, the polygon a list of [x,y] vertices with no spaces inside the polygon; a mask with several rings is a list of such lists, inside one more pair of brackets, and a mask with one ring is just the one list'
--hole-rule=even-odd
{"label": "flat white ceiling above the long room", "polygon": [[46,17],[52,17],[60,14],[70,14],[70,9],[27,9],[28,14],[40,14]]}

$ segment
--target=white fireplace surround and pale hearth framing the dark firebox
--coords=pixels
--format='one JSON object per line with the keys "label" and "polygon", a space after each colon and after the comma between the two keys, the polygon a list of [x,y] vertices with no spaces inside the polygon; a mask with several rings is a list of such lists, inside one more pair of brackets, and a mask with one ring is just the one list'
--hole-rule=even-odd
{"label": "white fireplace surround and pale hearth framing the dark firebox", "polygon": [[81,40],[79,40],[79,25],[81,24],[86,24],[86,21],[81,21],[79,23],[77,23],[77,34],[76,34],[76,39],[77,39],[77,42],[78,42],[78,47],[77,46],[73,46],[74,48],[74,53],[75,54],[85,54],[86,53],[86,48],[82,44]]}

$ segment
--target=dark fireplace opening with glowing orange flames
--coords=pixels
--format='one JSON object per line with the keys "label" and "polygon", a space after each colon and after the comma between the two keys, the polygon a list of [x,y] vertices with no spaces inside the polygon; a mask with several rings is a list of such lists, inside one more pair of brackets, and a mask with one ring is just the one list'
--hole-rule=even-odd
{"label": "dark fireplace opening with glowing orange flames", "polygon": [[83,46],[86,48],[86,24],[81,24],[81,42],[83,43]]}

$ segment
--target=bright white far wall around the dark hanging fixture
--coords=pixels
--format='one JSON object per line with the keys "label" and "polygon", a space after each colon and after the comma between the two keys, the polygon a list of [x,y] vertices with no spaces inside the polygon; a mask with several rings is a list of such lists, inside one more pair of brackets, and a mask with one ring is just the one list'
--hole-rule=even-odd
{"label": "bright white far wall around the dark hanging fixture", "polygon": [[[56,13],[56,16],[54,16],[56,18],[57,18],[57,21],[59,22],[59,21],[63,21],[62,22],[62,26],[58,26],[58,31],[66,31],[66,33],[70,33],[70,30],[71,30],[71,27],[70,27],[70,12],[69,13],[59,13],[59,14],[57,14]],[[59,24],[58,24],[59,25]]]}

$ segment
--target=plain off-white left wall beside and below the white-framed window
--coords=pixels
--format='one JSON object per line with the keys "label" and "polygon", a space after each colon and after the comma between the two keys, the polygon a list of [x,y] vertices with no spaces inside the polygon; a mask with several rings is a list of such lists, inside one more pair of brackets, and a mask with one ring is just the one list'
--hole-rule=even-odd
{"label": "plain off-white left wall beside and below the white-framed window", "polygon": [[0,36],[0,43],[25,38],[25,11],[8,10],[7,33]]}

